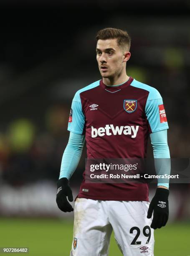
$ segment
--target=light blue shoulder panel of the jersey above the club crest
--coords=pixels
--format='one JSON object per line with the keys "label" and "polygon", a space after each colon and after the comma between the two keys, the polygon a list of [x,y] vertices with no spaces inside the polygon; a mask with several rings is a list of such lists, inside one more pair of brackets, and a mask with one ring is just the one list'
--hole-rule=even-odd
{"label": "light blue shoulder panel of the jersey above the club crest", "polygon": [[139,82],[134,79],[133,82],[131,83],[131,86],[148,91],[149,95],[147,100],[162,99],[160,92],[156,88],[149,86],[148,84],[143,84],[142,82]]}

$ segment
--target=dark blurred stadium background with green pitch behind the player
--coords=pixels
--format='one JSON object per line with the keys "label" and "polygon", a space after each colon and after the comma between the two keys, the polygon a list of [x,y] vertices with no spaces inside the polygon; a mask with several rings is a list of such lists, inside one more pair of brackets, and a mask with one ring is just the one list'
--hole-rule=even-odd
{"label": "dark blurred stadium background with green pitch behind the player", "polygon": [[[171,157],[190,157],[189,12],[190,0],[1,0],[0,247],[69,255],[73,213],[58,210],[56,180],[73,95],[100,79],[95,36],[101,28],[129,32],[127,74],[160,91]],[[86,148],[70,182],[75,196],[85,157]],[[150,198],[154,191],[151,185]],[[190,185],[171,184],[170,191],[170,220],[155,232],[155,256],[187,256]],[[109,255],[121,255],[113,237]]]}

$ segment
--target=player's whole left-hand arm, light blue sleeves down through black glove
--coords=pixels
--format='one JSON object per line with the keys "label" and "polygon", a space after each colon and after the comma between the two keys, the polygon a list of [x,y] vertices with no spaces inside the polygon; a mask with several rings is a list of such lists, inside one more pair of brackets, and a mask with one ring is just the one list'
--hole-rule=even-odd
{"label": "player's whole left-hand arm, light blue sleeves down through black glove", "polygon": [[84,124],[85,117],[82,111],[81,98],[78,91],[76,92],[71,105],[71,112],[68,119],[68,131],[70,131],[70,136],[63,153],[60,176],[57,182],[56,202],[59,209],[63,212],[73,211],[73,207],[68,202],[68,200],[70,202],[73,201],[72,190],[68,184],[68,180],[76,170],[81,158],[84,146]]}

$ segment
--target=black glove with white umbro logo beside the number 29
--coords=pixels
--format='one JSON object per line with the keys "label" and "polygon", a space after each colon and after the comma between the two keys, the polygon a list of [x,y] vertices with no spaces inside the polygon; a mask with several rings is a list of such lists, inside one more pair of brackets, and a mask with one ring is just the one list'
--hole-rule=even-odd
{"label": "black glove with white umbro logo beside the number 29", "polygon": [[153,220],[150,225],[151,228],[157,229],[166,225],[169,216],[168,196],[169,189],[161,187],[156,189],[156,194],[150,202],[147,213],[147,218],[150,219],[154,210]]}

